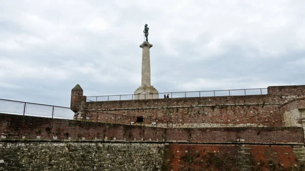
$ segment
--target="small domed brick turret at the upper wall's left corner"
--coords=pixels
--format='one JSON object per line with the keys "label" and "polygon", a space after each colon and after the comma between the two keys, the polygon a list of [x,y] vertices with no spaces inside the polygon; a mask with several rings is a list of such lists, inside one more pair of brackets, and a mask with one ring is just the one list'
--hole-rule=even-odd
{"label": "small domed brick turret at the upper wall's left corner", "polygon": [[82,102],[86,102],[86,96],[83,95],[83,89],[80,87],[80,85],[76,84],[76,86],[71,90],[71,110],[73,112],[77,112]]}

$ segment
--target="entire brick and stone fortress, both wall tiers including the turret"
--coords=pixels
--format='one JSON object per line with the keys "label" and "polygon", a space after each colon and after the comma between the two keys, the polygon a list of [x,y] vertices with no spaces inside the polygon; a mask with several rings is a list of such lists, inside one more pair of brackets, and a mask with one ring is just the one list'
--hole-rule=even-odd
{"label": "entire brick and stone fortress, both wall tiers including the turret", "polygon": [[[305,170],[305,86],[100,102],[82,93],[71,96],[78,119],[100,122],[0,114],[0,170]],[[128,125],[126,115],[174,124]]]}

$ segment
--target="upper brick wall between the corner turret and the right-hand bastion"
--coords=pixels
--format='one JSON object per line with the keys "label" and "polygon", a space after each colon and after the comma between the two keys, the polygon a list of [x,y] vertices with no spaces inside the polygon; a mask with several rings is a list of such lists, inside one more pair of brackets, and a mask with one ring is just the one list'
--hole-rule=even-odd
{"label": "upper brick wall between the corner turret and the right-hand bastion", "polygon": [[[283,118],[278,110],[278,104],[267,101],[268,98],[265,98],[265,95],[256,97],[258,98],[249,102],[245,101],[249,99],[243,96],[239,96],[239,98],[202,97],[100,101],[86,102],[82,109],[99,110],[119,115],[143,116],[158,119],[159,122],[171,121],[174,124],[282,126]],[[254,97],[252,96],[252,98]],[[232,99],[234,101],[231,101]],[[92,120],[99,118],[98,121],[111,122],[110,117],[105,114],[97,116],[94,112],[83,112],[81,116],[82,118],[89,117]],[[125,123],[128,123],[128,121],[125,121]]]}

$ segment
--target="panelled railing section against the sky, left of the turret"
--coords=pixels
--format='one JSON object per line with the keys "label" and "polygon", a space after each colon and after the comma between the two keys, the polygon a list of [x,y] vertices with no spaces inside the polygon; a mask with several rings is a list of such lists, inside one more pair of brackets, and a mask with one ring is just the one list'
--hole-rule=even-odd
{"label": "panelled railing section against the sky, left of the turret", "polygon": [[7,99],[0,99],[0,113],[59,119],[73,119],[74,116],[70,108]]}

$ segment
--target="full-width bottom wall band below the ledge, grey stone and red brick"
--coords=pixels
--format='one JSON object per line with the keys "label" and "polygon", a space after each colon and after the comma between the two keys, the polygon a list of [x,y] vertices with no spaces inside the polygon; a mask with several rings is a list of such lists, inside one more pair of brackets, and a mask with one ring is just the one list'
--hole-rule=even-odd
{"label": "full-width bottom wall band below the ledge, grey stone and red brick", "polygon": [[0,142],[0,170],[305,170],[303,146]]}

